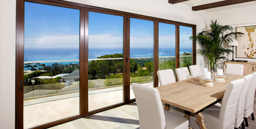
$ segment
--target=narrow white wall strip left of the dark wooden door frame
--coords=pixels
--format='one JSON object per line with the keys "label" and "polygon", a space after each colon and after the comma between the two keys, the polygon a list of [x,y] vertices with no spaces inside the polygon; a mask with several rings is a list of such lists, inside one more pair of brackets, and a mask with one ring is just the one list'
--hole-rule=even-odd
{"label": "narrow white wall strip left of the dark wooden door frame", "polygon": [[14,129],[16,0],[0,0],[0,129]]}

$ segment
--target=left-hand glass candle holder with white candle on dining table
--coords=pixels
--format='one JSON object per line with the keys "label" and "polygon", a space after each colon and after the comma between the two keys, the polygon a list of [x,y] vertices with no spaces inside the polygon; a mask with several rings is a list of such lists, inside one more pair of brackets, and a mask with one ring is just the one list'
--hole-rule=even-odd
{"label": "left-hand glass candle holder with white candle on dining table", "polygon": [[204,81],[202,83],[202,86],[204,87],[213,87],[212,81],[214,80],[214,71],[204,71],[202,73],[202,80]]}

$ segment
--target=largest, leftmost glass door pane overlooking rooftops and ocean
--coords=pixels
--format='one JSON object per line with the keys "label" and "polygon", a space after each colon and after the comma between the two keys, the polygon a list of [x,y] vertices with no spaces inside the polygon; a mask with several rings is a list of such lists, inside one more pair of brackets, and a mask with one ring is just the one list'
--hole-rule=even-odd
{"label": "largest, leftmost glass door pane overlooking rooftops and ocean", "polygon": [[79,15],[25,2],[24,129],[79,115]]}

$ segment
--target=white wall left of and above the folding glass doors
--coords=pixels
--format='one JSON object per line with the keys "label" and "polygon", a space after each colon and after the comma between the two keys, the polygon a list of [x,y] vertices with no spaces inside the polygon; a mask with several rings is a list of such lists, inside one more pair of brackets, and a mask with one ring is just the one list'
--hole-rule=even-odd
{"label": "white wall left of and above the folding glass doors", "polygon": [[[184,4],[168,0],[69,0],[81,4],[195,24],[204,28],[208,13],[194,12]],[[16,0],[0,1],[0,128],[14,129],[15,112],[15,23]],[[198,59],[199,60],[199,59]],[[197,64],[199,62],[197,61]]]}

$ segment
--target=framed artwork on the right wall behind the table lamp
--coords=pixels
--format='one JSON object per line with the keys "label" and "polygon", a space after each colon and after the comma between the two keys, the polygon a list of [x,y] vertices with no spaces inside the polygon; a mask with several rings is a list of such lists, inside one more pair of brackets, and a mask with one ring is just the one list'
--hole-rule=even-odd
{"label": "framed artwork on the right wall behind the table lamp", "polygon": [[256,59],[256,25],[246,27],[236,27],[236,32],[242,32],[238,38],[236,46],[236,58],[255,58]]}

